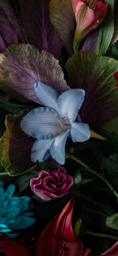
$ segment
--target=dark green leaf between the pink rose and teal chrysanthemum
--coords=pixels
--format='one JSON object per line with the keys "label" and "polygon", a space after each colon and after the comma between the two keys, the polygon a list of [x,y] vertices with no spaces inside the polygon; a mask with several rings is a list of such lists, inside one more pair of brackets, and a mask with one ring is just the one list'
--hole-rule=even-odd
{"label": "dark green leaf between the pink rose and teal chrysanthemum", "polygon": [[16,192],[19,194],[30,185],[30,179],[38,175],[37,172],[28,173],[18,178],[14,185],[16,186]]}

